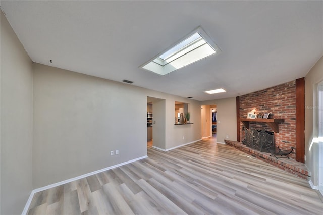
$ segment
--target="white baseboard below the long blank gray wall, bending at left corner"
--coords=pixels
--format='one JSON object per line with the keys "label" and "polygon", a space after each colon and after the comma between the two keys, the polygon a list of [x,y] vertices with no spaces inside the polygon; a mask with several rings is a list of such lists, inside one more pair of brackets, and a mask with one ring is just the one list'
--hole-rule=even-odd
{"label": "white baseboard below the long blank gray wall, bending at left corner", "polygon": [[91,175],[95,175],[97,173],[101,173],[101,172],[104,172],[106,170],[111,170],[111,169],[116,168],[116,167],[120,167],[120,166],[123,166],[123,165],[126,165],[126,164],[130,164],[132,162],[135,162],[137,160],[141,160],[141,159],[144,159],[144,158],[147,158],[147,157],[148,157],[147,155],[146,156],[142,156],[142,157],[138,157],[136,159],[128,160],[127,162],[124,162],[124,163],[121,163],[121,164],[117,164],[117,165],[114,165],[114,166],[106,167],[106,168],[103,168],[101,170],[96,170],[96,171],[91,172],[91,173],[86,173],[86,174],[77,176],[75,178],[67,179],[67,180],[64,180],[64,181],[61,181],[61,182],[57,182],[57,183],[54,183],[54,184],[47,185],[45,187],[40,187],[40,188],[34,189],[30,193],[30,196],[29,196],[29,198],[27,200],[27,203],[25,205],[25,208],[22,211],[22,215],[27,214],[28,208],[30,206],[30,203],[31,203],[32,198],[34,197],[34,194],[35,193],[38,193],[40,191],[44,191],[44,190],[47,190],[47,189],[50,189],[50,188],[53,188],[53,187],[57,187],[57,186],[60,186],[60,185],[63,185],[63,184],[66,184],[66,183],[69,183],[69,182],[72,182],[72,181],[76,181],[76,180],[79,180],[79,179],[82,179],[82,178],[85,178],[85,177],[88,177],[88,176],[91,176]]}

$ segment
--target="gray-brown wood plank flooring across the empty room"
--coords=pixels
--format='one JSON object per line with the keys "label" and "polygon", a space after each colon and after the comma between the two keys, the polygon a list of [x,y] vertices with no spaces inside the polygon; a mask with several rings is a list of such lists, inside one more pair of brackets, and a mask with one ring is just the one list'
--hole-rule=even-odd
{"label": "gray-brown wood plank flooring across the empty room", "polygon": [[203,139],[34,195],[28,214],[323,214],[308,182]]}

